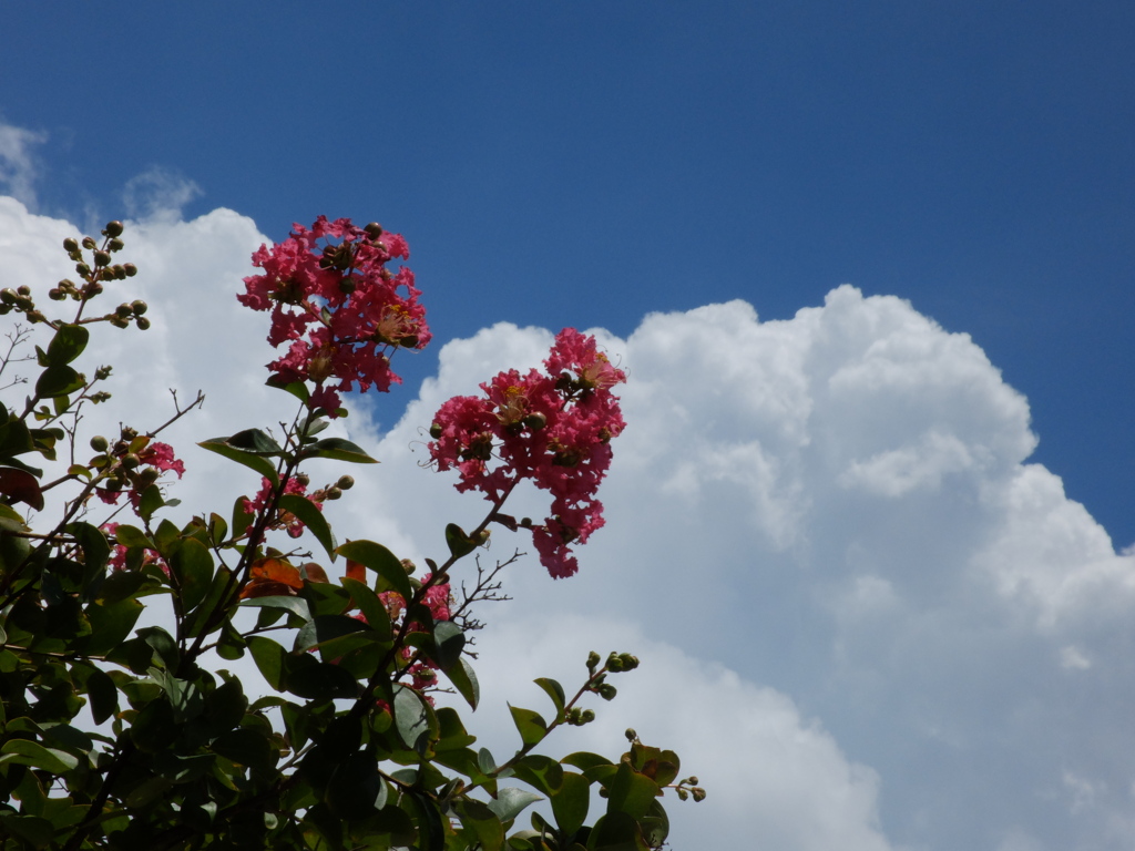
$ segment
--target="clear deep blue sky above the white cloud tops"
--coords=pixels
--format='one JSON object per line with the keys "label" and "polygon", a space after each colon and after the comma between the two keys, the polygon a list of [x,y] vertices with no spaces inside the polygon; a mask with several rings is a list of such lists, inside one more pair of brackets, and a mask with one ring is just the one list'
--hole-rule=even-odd
{"label": "clear deep blue sky above the white cloud tops", "polygon": [[[1123,2],[129,3],[6,9],[44,211],[171,169],[270,236],[410,239],[443,338],[628,332],[841,283],[967,331],[1037,458],[1135,541],[1135,10]],[[424,369],[424,364],[423,364]]]}

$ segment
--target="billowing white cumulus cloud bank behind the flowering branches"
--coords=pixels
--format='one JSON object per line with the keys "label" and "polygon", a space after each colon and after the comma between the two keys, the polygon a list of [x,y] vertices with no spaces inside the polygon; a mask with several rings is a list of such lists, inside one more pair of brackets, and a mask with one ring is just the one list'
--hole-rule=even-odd
{"label": "billowing white cumulus cloud bank behind the flowering branches", "polygon": [[[149,428],[171,412],[167,388],[203,389],[169,436],[190,467],[177,495],[184,511],[229,505],[254,477],[193,441],[288,414],[262,385],[263,317],[233,297],[264,237],[227,210],[140,214],[124,256],[142,272],[115,286],[151,303],[154,327],[100,348],[126,411],[89,424]],[[0,199],[0,286],[67,275],[74,233]],[[507,738],[498,688],[533,705],[519,682],[572,682],[587,650],[631,650],[642,668],[582,734],[611,751],[634,726],[682,755],[711,797],[675,803],[678,848],[1130,845],[1135,556],[1027,463],[1027,402],[968,336],[849,286],[789,320],[733,302],[598,334],[630,376],[608,525],[570,581],[535,558],[508,568],[515,600],[481,635],[487,741]],[[474,525],[485,505],[420,469],[423,429],[550,340],[482,329],[446,344],[401,419],[393,398],[355,405],[337,428],[382,464],[328,506],[340,538],[420,559],[444,550],[444,522]],[[342,472],[325,466],[313,479]],[[513,507],[543,516],[546,500]],[[496,530],[485,557],[514,547]]]}

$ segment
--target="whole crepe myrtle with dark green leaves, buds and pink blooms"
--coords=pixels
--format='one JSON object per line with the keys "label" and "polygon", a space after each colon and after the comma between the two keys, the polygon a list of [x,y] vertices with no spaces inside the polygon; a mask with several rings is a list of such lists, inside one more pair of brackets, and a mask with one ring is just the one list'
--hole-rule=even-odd
{"label": "whole crepe myrtle with dark green leaves, buds and pink blooms", "polygon": [[[569,575],[570,548],[602,523],[595,488],[622,428],[621,373],[594,340],[565,331],[546,373],[502,373],[428,424],[435,466],[457,469],[488,509],[472,531],[445,525],[448,551],[419,574],[378,541],[338,542],[322,508],[354,479],[312,489],[303,469],[368,470],[364,448],[321,437],[346,415],[339,394],[388,389],[392,355],[429,340],[412,273],[388,266],[405,243],[342,219],[297,227],[254,255],[263,273],[241,295],[271,311],[270,340],[286,346],[269,384],[293,397],[291,423],[202,440],[246,469],[251,496],[175,521],[170,477],[185,465],[157,438],[200,395],[175,397],[148,430],[79,433],[81,411],[110,399],[111,369],[76,365],[98,351],[92,332],[150,325],[141,301],[94,312],[136,272],[115,261],[121,236],[110,222],[101,239],[65,241],[78,281],[50,288],[51,305],[28,286],[0,292],[0,314],[19,320],[0,364],[5,851],[661,848],[664,790],[704,797],[675,753],[631,730],[619,757],[543,752],[560,727],[594,719],[589,699],[615,697],[612,677],[638,665],[630,654],[591,654],[574,691],[537,680],[548,703],[510,707],[510,753],[478,748],[462,713],[435,703],[442,689],[470,710],[481,700],[466,635],[505,565],[470,556],[490,525],[527,530],[549,572]],[[522,479],[552,494],[545,521],[503,513]],[[460,600],[454,575],[473,588]],[[161,616],[144,623],[162,625],[138,626],[148,606]],[[247,693],[217,657],[250,657],[271,691]]]}

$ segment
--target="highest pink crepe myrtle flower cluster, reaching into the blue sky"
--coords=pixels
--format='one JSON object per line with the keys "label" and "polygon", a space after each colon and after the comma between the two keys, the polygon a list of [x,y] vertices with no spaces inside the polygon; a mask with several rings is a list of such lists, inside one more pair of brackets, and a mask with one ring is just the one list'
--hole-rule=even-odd
{"label": "highest pink crepe myrtle flower cluster, reaching into the blue sky", "polygon": [[253,310],[271,310],[268,342],[288,344],[287,353],[268,364],[277,380],[312,381],[309,406],[335,416],[339,393],[354,382],[361,393],[371,387],[386,393],[402,381],[390,355],[429,343],[426,309],[418,303],[413,272],[386,268],[394,258],[410,256],[401,235],[323,216],[310,230],[293,228],[283,243],[261,245],[252,255],[264,273],[245,278],[246,292],[237,298]]}

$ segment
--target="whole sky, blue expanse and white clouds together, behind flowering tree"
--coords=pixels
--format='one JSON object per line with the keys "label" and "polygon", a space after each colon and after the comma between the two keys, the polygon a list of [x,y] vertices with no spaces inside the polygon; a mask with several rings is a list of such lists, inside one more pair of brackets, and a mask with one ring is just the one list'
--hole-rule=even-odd
{"label": "whole sky, blue expanse and white clouds together, behind flowering tree", "polygon": [[[35,235],[0,234],[0,280],[50,264],[61,220],[141,220],[155,327],[160,302],[202,325],[151,335],[133,380],[224,398],[222,365],[270,356],[209,302],[249,252],[377,219],[437,335],[396,364],[393,430],[356,418],[404,477],[446,393],[537,361],[541,329],[608,329],[631,374],[609,525],[571,583],[518,574],[487,647],[523,646],[523,603],[554,595],[532,676],[583,633],[688,683],[625,698],[711,786],[676,848],[1129,848],[1133,24],[1118,2],[15,6],[0,194],[48,218],[0,204]],[[250,426],[257,393],[200,428]],[[429,555],[448,483],[367,487],[344,525]],[[691,732],[707,705],[767,768]]]}

